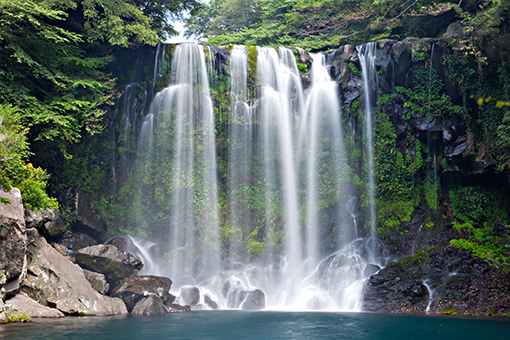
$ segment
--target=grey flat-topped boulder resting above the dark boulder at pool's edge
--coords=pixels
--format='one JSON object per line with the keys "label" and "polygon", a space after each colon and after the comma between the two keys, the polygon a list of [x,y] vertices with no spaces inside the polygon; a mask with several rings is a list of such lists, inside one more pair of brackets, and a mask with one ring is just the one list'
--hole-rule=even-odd
{"label": "grey flat-topped boulder resting above the dark boulder at pool's edge", "polygon": [[138,274],[143,267],[140,260],[112,244],[98,244],[78,250],[76,263],[82,268],[104,274],[112,287],[115,287],[118,281]]}

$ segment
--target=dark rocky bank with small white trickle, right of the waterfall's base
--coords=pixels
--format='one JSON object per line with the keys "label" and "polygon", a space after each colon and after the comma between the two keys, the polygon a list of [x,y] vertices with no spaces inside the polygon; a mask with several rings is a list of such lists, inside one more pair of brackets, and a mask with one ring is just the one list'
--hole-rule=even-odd
{"label": "dark rocky bank with small white trickle, right of the waterfall's base", "polygon": [[378,313],[503,315],[510,313],[510,273],[469,251],[441,244],[388,264],[367,282],[363,310]]}

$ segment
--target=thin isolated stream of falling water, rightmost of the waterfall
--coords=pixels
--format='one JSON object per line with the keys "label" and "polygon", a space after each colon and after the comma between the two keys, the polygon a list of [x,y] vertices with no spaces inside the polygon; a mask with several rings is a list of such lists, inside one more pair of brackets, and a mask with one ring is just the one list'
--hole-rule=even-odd
{"label": "thin isolated stream of falling water, rightmost of the waterfall", "polygon": [[377,97],[377,70],[375,59],[377,55],[377,42],[357,46],[358,57],[363,72],[363,95],[365,100],[365,160],[368,168],[368,204],[370,209],[369,230],[371,235],[371,257],[376,262],[377,233],[375,230],[375,175],[374,175],[374,137],[373,137],[373,107]]}

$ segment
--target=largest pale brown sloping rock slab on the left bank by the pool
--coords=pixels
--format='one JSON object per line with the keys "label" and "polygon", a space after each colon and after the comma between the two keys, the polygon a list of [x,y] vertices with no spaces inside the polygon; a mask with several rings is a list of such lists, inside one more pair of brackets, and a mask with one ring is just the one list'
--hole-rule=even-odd
{"label": "largest pale brown sloping rock slab on the left bank by the pool", "polygon": [[36,229],[27,231],[28,274],[21,287],[42,305],[67,315],[113,315],[127,313],[121,299],[99,294],[83,270],[60,255]]}

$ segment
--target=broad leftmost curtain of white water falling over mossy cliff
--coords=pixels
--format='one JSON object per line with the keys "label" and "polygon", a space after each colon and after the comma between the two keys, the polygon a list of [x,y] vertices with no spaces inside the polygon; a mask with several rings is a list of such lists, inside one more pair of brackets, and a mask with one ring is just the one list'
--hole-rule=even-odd
{"label": "broad leftmost curtain of white water falling over mossy cliff", "polygon": [[155,188],[145,195],[154,195],[155,204],[167,205],[160,208],[168,215],[159,212],[168,223],[161,226],[161,237],[170,240],[164,272],[176,286],[195,284],[197,278],[219,270],[213,113],[203,47],[177,46],[170,84],[154,98],[138,152],[143,157],[139,166],[146,171],[141,175],[142,187],[155,172],[171,172],[167,192]]}

